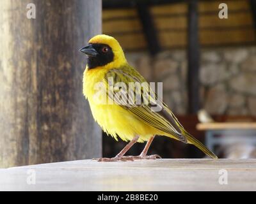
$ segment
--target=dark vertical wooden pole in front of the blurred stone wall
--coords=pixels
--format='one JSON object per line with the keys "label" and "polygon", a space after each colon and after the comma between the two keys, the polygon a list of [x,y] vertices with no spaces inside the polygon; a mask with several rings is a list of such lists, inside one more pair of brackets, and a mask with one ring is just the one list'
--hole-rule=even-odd
{"label": "dark vertical wooden pole in front of the blurred stone wall", "polygon": [[198,1],[189,1],[188,13],[188,112],[199,109],[199,58]]}

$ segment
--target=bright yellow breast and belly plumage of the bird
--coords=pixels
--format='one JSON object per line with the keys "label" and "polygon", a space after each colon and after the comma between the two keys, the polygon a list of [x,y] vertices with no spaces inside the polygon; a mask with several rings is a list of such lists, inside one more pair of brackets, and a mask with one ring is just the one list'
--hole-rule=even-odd
{"label": "bright yellow breast and belly plumage of the bird", "polygon": [[83,92],[90,103],[94,119],[100,127],[117,140],[132,140],[134,136],[140,136],[138,142],[147,141],[152,135],[156,135],[156,129],[148,126],[134,117],[124,108],[118,105],[100,104],[95,101],[95,84],[102,81],[104,72],[100,69],[84,72]]}

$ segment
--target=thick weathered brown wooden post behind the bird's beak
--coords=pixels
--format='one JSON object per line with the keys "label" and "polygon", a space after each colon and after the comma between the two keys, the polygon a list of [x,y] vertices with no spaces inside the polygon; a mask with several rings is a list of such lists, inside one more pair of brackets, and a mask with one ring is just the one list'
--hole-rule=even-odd
{"label": "thick weathered brown wooden post behind the bird's beak", "polygon": [[0,1],[0,10],[0,167],[101,156],[78,52],[101,33],[101,1]]}

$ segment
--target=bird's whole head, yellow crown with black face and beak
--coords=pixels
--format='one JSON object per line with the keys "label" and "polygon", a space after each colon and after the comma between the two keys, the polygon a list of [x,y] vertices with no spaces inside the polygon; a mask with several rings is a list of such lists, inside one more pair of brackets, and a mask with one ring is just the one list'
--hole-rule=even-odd
{"label": "bird's whole head, yellow crown with black face and beak", "polygon": [[80,49],[88,55],[88,69],[120,68],[127,63],[122,47],[115,38],[99,34],[88,41],[89,45]]}

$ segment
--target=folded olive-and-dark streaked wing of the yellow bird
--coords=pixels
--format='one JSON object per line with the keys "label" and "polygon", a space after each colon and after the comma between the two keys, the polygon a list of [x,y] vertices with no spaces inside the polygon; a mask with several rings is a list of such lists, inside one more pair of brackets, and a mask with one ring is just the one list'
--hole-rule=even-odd
{"label": "folded olive-and-dark streaked wing of the yellow bird", "polygon": [[[129,87],[129,82],[138,82],[140,84],[144,83],[144,85],[147,84],[147,86],[143,86],[143,88],[141,87],[140,96],[138,96],[138,92],[135,90],[131,91],[130,89],[123,89],[121,84],[121,89],[109,89],[108,96],[109,98],[113,99],[114,103],[122,106],[122,108],[125,108],[125,110],[131,112],[135,117],[142,120],[146,124],[159,129],[159,131],[163,131],[164,133],[172,135],[177,140],[187,143],[186,137],[182,135],[182,129],[184,128],[181,126],[168,106],[166,106],[164,103],[155,103],[155,106],[160,106],[161,111],[154,112],[151,110],[152,104],[150,103],[150,100],[154,97],[157,97],[157,95],[152,91],[152,89],[150,89],[149,84],[143,77],[141,77],[138,71],[128,65],[118,69],[110,69],[105,75],[105,80],[108,82],[108,84],[109,82],[113,82],[113,85],[118,82],[121,82],[121,84],[124,83],[123,85],[125,85],[127,89]],[[145,92],[153,93],[154,96],[152,96],[152,94],[145,94]],[[135,97],[131,99],[128,93],[133,94]],[[118,97],[116,97],[116,95]],[[148,96],[148,98],[145,96]],[[136,104],[137,97],[141,98],[140,104]]]}

